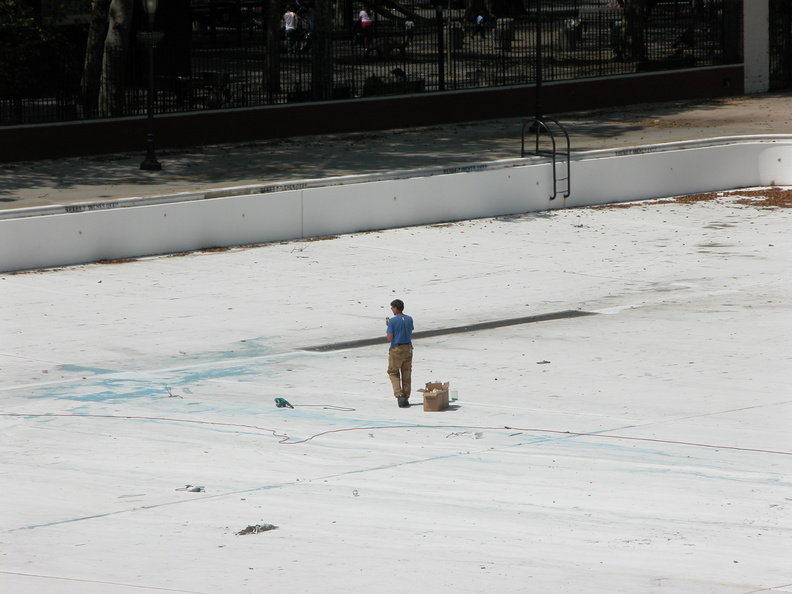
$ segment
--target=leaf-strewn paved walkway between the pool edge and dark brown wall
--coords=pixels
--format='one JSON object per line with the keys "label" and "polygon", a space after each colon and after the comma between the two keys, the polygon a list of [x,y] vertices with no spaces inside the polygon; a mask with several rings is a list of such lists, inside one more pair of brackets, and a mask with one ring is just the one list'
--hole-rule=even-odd
{"label": "leaf-strewn paved walkway between the pool edge and dark brown wall", "polygon": [[[792,95],[769,94],[563,114],[575,151],[716,136],[792,134]],[[160,172],[139,154],[0,166],[0,208],[199,191],[261,182],[518,157],[523,119],[247,144],[161,149]]]}

